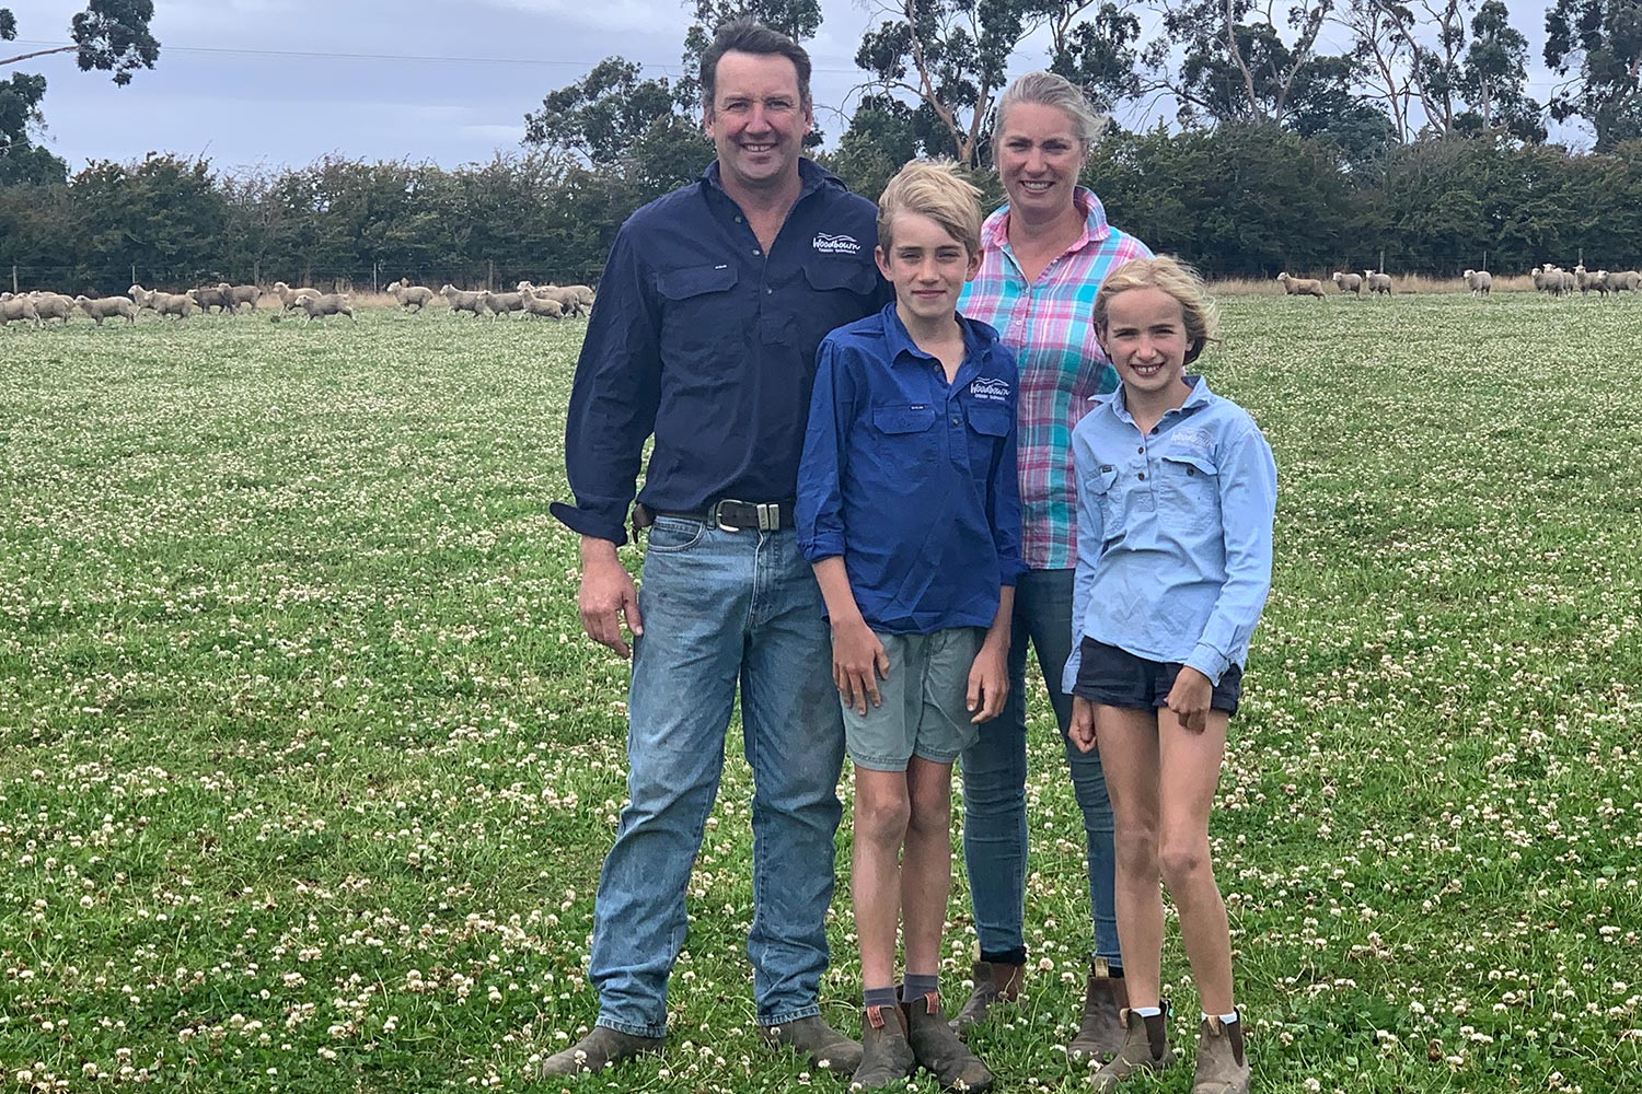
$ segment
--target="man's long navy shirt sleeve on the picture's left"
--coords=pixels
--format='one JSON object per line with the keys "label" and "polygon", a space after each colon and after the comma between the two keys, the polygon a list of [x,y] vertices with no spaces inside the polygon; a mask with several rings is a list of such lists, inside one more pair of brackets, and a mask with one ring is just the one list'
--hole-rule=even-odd
{"label": "man's long navy shirt sleeve on the picture's left", "polygon": [[655,430],[662,358],[650,277],[624,225],[599,279],[565,426],[565,472],[575,505],[552,513],[573,531],[626,543],[644,441]]}

